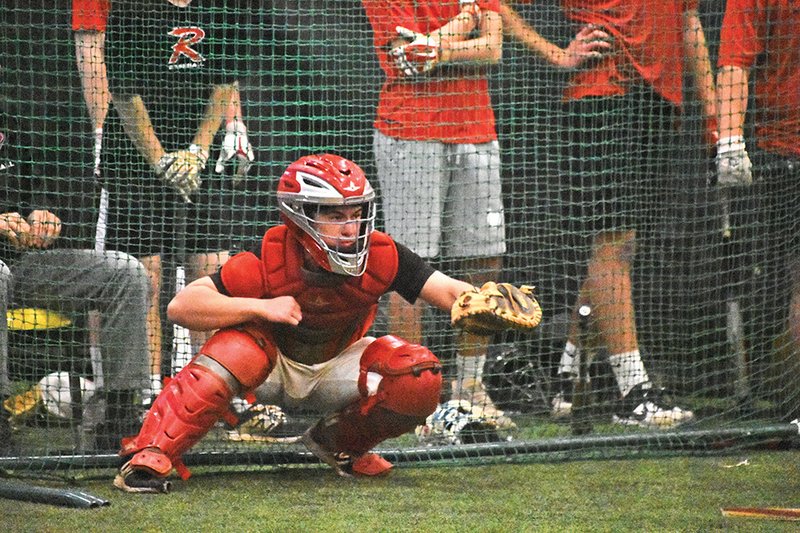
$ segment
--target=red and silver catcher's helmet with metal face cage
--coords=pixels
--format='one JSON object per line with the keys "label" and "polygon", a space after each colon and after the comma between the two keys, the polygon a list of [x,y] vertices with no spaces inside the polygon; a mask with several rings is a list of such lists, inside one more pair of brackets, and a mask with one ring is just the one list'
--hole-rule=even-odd
{"label": "red and silver catcher's helmet with metal face cage", "polygon": [[[360,276],[367,268],[367,255],[375,229],[375,191],[361,168],[338,155],[301,157],[286,169],[278,182],[278,207],[292,234],[325,270]],[[319,208],[362,207],[355,248],[332,248],[316,229]],[[352,222],[352,221],[350,221]]]}

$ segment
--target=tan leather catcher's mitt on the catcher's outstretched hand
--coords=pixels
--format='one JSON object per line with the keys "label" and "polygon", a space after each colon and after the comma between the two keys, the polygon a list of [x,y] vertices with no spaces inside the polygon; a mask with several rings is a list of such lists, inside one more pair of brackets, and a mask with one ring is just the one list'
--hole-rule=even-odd
{"label": "tan leather catcher's mitt on the catcher's outstretched hand", "polygon": [[542,320],[542,309],[533,287],[489,281],[463,292],[450,310],[454,327],[476,335],[493,335],[505,329],[533,329]]}

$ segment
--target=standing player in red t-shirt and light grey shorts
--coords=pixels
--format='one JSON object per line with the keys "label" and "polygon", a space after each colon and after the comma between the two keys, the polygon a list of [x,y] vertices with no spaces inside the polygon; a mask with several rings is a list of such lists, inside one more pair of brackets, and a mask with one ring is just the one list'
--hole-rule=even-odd
{"label": "standing player in red t-shirt and light grey shorts", "polygon": [[[387,233],[426,259],[454,260],[480,286],[506,251],[500,146],[487,67],[500,61],[497,0],[363,0],[386,80],[373,147]],[[424,303],[389,295],[389,327],[422,342]],[[486,392],[489,339],[461,333],[453,399],[500,427],[514,423]]]}

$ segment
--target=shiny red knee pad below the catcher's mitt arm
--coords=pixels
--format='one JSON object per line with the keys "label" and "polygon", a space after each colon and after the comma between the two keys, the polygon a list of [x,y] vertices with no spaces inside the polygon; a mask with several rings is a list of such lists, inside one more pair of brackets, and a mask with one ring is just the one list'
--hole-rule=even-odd
{"label": "shiny red knee pad below the catcher's mitt arm", "polygon": [[386,335],[364,350],[358,390],[363,414],[379,405],[401,415],[424,418],[439,404],[442,365],[424,346]]}

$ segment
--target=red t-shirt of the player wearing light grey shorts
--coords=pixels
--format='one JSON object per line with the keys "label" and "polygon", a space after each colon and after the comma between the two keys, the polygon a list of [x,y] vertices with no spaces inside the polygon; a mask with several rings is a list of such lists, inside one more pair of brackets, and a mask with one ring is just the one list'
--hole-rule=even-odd
{"label": "red t-shirt of the player wearing light grey shorts", "polygon": [[[403,78],[389,58],[397,26],[429,33],[459,14],[458,0],[362,0],[386,81],[375,128],[391,137],[479,144],[497,139],[489,83],[482,67],[439,66],[419,80]],[[499,0],[479,0],[499,12]]]}

